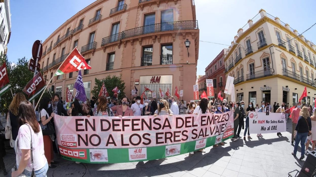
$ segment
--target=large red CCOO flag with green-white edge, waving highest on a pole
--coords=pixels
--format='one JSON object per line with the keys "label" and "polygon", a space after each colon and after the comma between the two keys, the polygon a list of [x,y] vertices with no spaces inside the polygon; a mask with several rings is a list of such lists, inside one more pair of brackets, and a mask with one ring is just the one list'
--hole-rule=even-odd
{"label": "large red CCOO flag with green-white edge, waving highest on a pole", "polygon": [[66,57],[61,66],[59,66],[55,76],[71,73],[81,69],[91,69],[91,66],[88,65],[86,60],[84,60],[84,57],[79,53],[77,47],[75,47]]}

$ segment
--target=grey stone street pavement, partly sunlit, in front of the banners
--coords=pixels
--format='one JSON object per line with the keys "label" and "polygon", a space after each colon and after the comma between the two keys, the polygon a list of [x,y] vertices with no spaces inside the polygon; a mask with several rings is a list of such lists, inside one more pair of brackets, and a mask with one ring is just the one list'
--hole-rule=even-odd
{"label": "grey stone street pavement, partly sunlit, in front of the banners", "polygon": [[[305,159],[300,161],[291,155],[294,147],[290,145],[292,124],[287,123],[287,132],[283,136],[276,133],[264,134],[252,140],[230,140],[219,147],[206,148],[206,153],[195,152],[194,155],[183,154],[167,160],[143,161],[117,164],[76,164],[61,158],[57,168],[49,168],[48,177],[110,177],[110,176],[212,176],[212,177],[250,177],[250,176],[288,176],[290,171],[301,170]],[[243,135],[243,130],[242,133]],[[299,148],[299,152],[301,149]],[[297,153],[298,156],[300,153]],[[15,163],[13,149],[7,150],[4,157],[6,168],[11,169]],[[0,176],[3,175],[2,173]],[[11,174],[7,175],[8,177]]]}

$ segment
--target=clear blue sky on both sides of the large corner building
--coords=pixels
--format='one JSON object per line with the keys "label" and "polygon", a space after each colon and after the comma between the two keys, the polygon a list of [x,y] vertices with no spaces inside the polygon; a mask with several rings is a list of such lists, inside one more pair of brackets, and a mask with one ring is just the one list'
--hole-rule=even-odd
{"label": "clear blue sky on both sides of the large corner building", "polygon": [[[9,61],[32,56],[35,40],[44,41],[55,29],[94,0],[16,1],[11,0],[11,38]],[[237,30],[262,8],[302,33],[316,22],[316,1],[294,0],[195,0],[200,40],[230,45]],[[38,9],[38,14],[33,12]],[[316,26],[303,35],[316,43]],[[197,75],[228,46],[200,42]]]}

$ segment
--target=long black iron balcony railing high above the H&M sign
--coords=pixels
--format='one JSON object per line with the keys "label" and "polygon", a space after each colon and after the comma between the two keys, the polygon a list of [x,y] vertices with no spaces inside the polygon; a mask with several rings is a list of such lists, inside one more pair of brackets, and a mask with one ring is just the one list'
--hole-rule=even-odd
{"label": "long black iron balcony railing high above the H&M sign", "polygon": [[157,23],[128,29],[122,32],[122,38],[176,29],[198,29],[197,20]]}

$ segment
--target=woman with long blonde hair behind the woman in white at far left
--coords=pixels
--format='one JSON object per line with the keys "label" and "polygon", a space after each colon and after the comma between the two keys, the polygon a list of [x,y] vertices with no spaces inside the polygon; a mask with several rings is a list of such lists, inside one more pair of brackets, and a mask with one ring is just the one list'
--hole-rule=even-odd
{"label": "woman with long blonde hair behind the woman in white at far left", "polygon": [[14,147],[14,150],[16,152],[16,147],[15,147],[15,139],[16,136],[18,135],[18,115],[19,115],[19,105],[22,101],[26,100],[25,96],[23,93],[17,93],[13,97],[12,102],[9,105],[9,113],[8,113],[8,119],[10,119],[11,123],[11,133],[12,133],[12,140],[11,143]]}

